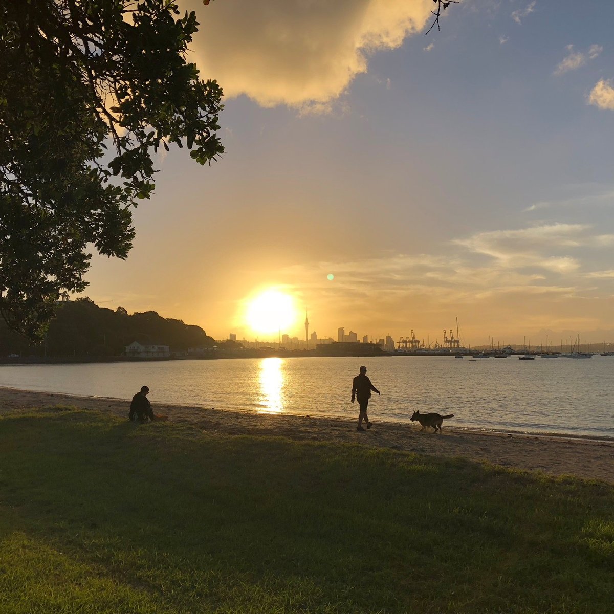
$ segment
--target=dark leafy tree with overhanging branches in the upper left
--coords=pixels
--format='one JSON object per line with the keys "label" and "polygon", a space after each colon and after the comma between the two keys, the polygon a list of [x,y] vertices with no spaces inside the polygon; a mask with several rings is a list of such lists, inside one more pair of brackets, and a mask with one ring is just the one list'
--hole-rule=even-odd
{"label": "dark leafy tree with overhanging branches in the upper left", "polygon": [[0,314],[32,340],[87,286],[88,243],[128,255],[152,153],[223,152],[222,90],[186,61],[198,22],[178,15],[175,0],[0,6]]}

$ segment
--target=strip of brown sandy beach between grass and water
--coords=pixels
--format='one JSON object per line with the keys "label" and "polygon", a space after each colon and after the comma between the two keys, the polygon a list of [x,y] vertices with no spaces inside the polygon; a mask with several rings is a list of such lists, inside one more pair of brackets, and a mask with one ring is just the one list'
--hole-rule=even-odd
{"label": "strip of brown sandy beach between grass and water", "polygon": [[[49,392],[21,391],[0,387],[0,414],[26,412],[32,408],[73,405],[85,410],[128,416],[130,402],[116,398],[76,397]],[[179,405],[158,405],[152,399],[154,413],[168,416],[171,422],[192,424],[212,437],[219,435],[270,435],[300,441],[360,443],[375,448],[391,448],[435,456],[465,457],[489,461],[548,475],[573,475],[614,483],[614,441],[521,433],[476,432],[454,428],[446,421],[441,435],[419,432],[419,426],[379,422],[370,418],[373,428],[356,431],[356,421],[240,413]],[[146,426],[144,426],[146,428]]]}

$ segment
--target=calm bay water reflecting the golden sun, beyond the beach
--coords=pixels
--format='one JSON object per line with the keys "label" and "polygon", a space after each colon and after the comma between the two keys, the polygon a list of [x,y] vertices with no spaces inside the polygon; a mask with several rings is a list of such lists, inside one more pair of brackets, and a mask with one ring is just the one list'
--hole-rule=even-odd
{"label": "calm bay water reflecting the golden sun, beyond the beach", "polygon": [[354,419],[352,377],[368,368],[372,421],[453,413],[449,426],[614,437],[614,356],[588,360],[403,356],[3,365],[0,386],[156,403]]}

